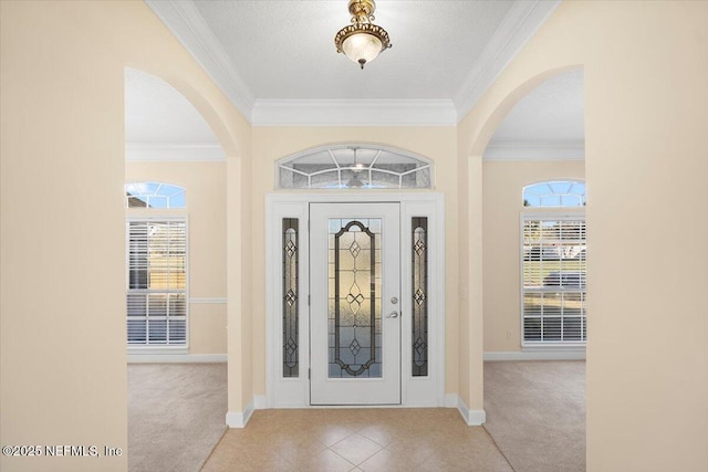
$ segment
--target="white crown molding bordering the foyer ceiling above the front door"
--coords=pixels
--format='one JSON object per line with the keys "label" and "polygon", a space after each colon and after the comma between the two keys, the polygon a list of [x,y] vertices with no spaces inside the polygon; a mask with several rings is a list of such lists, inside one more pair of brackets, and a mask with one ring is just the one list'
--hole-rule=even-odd
{"label": "white crown molding bordering the foyer ceiling above the front door", "polygon": [[254,126],[454,126],[469,113],[560,2],[528,0],[514,3],[450,101],[277,101],[253,96],[194,1],[145,0]]}

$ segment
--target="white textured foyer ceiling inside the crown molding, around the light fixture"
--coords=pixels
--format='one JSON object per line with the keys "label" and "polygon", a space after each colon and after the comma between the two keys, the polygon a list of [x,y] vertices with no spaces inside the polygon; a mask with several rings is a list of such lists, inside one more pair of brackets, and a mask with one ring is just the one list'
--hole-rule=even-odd
{"label": "white textured foyer ceiling inside the crown molding, around the light fixture", "polygon": [[379,0],[393,48],[364,71],[337,54],[346,0],[198,1],[249,92],[266,99],[451,99],[511,1]]}

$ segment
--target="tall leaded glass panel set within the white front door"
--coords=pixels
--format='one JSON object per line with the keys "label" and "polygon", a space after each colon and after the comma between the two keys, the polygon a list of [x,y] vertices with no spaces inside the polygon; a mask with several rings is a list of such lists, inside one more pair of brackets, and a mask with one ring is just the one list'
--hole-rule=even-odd
{"label": "tall leaded glass panel set within the white front door", "polygon": [[329,377],[382,377],[378,218],[329,220]]}

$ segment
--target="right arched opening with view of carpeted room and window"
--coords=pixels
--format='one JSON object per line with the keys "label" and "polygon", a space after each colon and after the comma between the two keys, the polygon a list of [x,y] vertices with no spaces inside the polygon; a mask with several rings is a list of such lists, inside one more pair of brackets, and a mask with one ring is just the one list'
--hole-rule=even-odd
{"label": "right arched opening with view of carpeted room and window", "polygon": [[[592,336],[585,323],[583,71],[558,70],[521,84],[483,125],[475,155],[482,156],[486,427],[512,453],[514,438],[533,442],[539,428],[548,430],[546,443],[572,437],[561,454],[583,463],[582,359],[585,336]],[[572,407],[559,410],[561,400]],[[573,427],[528,420],[551,417]],[[554,455],[509,460],[552,469],[563,460]]]}

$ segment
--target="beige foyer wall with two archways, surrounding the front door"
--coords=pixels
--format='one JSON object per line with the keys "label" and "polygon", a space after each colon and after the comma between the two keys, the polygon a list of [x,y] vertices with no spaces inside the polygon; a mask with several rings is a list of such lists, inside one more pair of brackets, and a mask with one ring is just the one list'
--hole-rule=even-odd
{"label": "beige foyer wall with two archways, surrounding the front door", "polygon": [[[523,94],[582,65],[593,254],[587,468],[706,470],[708,314],[697,296],[708,284],[705,18],[707,2],[565,2],[457,128],[253,128],[251,136],[144,3],[0,2],[1,442],[126,447],[126,65],[184,93],[228,156],[230,411],[264,392],[262,210],[272,164],[362,136],[436,161],[447,217],[446,390],[481,409],[481,155]],[[637,229],[650,231],[637,240]],[[13,471],[127,462],[97,464],[0,459]]]}

